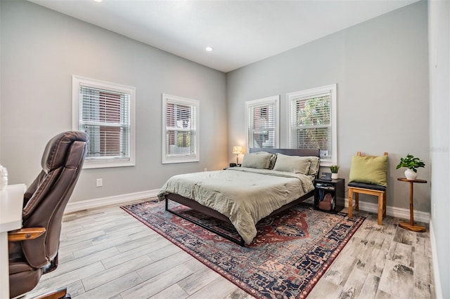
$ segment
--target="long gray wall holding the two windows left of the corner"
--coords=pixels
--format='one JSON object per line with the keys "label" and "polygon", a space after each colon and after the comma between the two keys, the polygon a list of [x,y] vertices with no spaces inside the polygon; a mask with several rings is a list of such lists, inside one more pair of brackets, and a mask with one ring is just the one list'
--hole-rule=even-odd
{"label": "long gray wall holding the two windows left of the corner", "polygon": [[[136,166],[83,170],[71,201],[156,190],[228,163],[222,72],[27,1],[1,1],[0,51],[0,161],[11,184],[29,185],[46,142],[71,129],[72,74],[136,87]],[[161,164],[162,93],[200,100],[200,162]]]}

